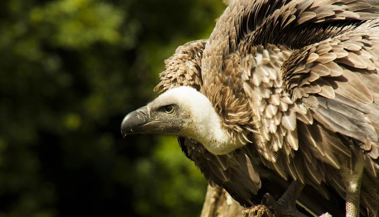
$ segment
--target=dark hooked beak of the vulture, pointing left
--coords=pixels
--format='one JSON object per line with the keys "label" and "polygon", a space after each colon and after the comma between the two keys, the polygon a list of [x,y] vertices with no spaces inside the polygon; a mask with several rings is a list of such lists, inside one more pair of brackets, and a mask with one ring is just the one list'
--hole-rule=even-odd
{"label": "dark hooked beak of the vulture, pointing left", "polygon": [[154,133],[157,128],[158,120],[150,120],[147,106],[138,108],[137,110],[127,114],[121,123],[121,134],[125,138],[126,135],[136,133]]}

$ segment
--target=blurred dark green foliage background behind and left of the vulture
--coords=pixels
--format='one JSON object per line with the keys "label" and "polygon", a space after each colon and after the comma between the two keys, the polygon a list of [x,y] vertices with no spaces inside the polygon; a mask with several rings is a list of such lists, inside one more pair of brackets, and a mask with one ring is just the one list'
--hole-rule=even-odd
{"label": "blurred dark green foliage background behind and left of the vulture", "polygon": [[198,216],[176,138],[120,123],[163,61],[208,38],[221,0],[0,1],[0,217]]}

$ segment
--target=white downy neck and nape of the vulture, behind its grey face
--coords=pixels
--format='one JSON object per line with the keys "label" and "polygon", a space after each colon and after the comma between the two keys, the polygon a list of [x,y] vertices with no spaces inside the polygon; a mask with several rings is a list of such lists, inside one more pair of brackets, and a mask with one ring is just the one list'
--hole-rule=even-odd
{"label": "white downy neck and nape of the vulture, behind its grey face", "polygon": [[179,88],[185,89],[185,92],[187,92],[180,95],[183,103],[190,108],[192,113],[192,124],[190,124],[192,126],[185,130],[184,136],[194,138],[209,152],[216,155],[229,153],[245,145],[245,143],[234,139],[226,132],[222,126],[220,116],[215,112],[212,103],[204,94],[194,88]]}

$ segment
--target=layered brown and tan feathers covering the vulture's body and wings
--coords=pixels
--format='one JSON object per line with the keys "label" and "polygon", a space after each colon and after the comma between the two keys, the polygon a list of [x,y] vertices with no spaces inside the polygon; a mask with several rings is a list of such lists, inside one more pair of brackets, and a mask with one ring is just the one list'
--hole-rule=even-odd
{"label": "layered brown and tan feathers covering the vulture's body and wings", "polygon": [[[241,170],[252,194],[260,187],[257,168],[264,165],[325,197],[324,183],[344,197],[339,171],[354,168],[363,153],[362,213],[377,216],[377,16],[377,9],[361,1],[234,1],[209,41],[186,44],[166,62],[157,88],[193,86],[210,99],[230,137],[248,143],[243,153],[250,162],[244,164],[255,169]],[[239,159],[239,151],[230,156]],[[202,160],[214,161],[203,155],[187,152],[210,182],[249,204],[240,192],[246,189],[233,187],[231,180],[239,176],[223,163],[213,165],[220,171],[200,166]]]}

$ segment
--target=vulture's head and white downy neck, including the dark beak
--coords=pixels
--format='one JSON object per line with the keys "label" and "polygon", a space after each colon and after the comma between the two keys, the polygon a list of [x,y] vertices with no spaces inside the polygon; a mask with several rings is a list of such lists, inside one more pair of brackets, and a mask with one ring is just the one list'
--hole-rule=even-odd
{"label": "vulture's head and white downy neck, including the dark beak", "polygon": [[224,132],[209,99],[186,86],[170,89],[126,115],[121,133],[124,137],[143,133],[193,138],[213,154],[226,154],[244,145]]}

